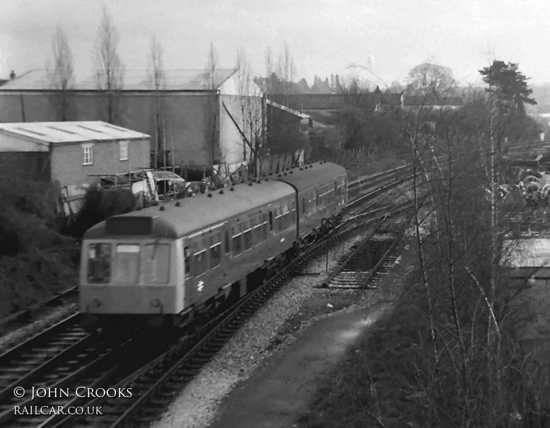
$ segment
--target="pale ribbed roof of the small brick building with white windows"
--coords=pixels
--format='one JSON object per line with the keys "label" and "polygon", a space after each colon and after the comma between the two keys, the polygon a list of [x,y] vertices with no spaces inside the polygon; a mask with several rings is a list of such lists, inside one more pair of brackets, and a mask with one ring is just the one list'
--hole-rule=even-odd
{"label": "pale ribbed roof of the small brick building with white windows", "polygon": [[150,138],[146,134],[100,121],[0,124],[0,134],[54,144]]}

